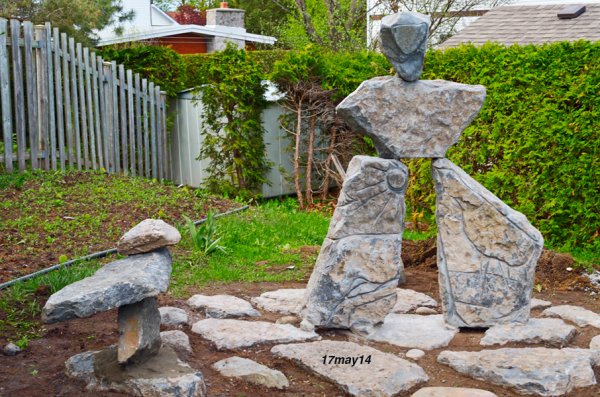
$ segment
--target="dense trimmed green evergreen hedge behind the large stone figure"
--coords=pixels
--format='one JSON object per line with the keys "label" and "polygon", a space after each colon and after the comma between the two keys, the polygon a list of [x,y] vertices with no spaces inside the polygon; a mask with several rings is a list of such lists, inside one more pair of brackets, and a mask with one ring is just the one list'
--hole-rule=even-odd
{"label": "dense trimmed green evergreen hedge behind the large stone figure", "polygon": [[[324,88],[335,91],[336,101],[363,80],[391,73],[387,60],[376,53],[312,48],[303,56],[323,60],[317,77]],[[248,54],[251,62],[260,63],[265,79],[284,57],[284,51]],[[117,60],[133,66],[127,59]],[[135,61],[148,70],[166,66],[166,58],[154,67],[148,59]],[[153,76],[163,87],[204,84],[206,70],[220,60],[188,55],[173,56],[173,62],[179,77],[164,70]],[[421,78],[484,85],[487,98],[479,116],[447,156],[523,212],[549,246],[600,252],[600,43],[434,50],[427,53]],[[412,174],[408,207],[433,222],[430,161],[408,163]]]}

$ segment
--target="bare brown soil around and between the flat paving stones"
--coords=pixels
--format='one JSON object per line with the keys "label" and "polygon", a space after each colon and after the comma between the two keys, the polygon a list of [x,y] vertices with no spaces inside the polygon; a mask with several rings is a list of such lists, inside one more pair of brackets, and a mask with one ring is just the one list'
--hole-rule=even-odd
{"label": "bare brown soil around and between the flat paving stones", "polygon": [[[304,251],[312,252],[313,247]],[[420,242],[406,241],[403,247],[403,259],[406,263],[407,282],[403,288],[414,289],[434,297],[439,302],[437,269],[435,266],[435,240]],[[536,298],[551,301],[555,305],[570,304],[598,311],[600,307],[600,291],[586,282],[577,271],[568,271],[572,258],[562,254],[544,252],[538,264],[536,283],[542,285],[541,292],[535,292]],[[248,299],[258,296],[265,291],[279,288],[303,288],[304,282],[294,283],[231,283],[211,284],[190,290],[190,294],[231,294]],[[47,291],[40,290],[39,296],[46,296]],[[185,300],[175,299],[169,294],[159,298],[161,305],[177,306],[188,309]],[[540,311],[532,312],[539,316]],[[263,312],[259,320],[275,321],[280,316]],[[202,319],[198,313],[192,314],[192,322]],[[69,357],[88,350],[99,350],[117,342],[116,310],[102,313],[88,319],[73,320],[66,323],[47,325],[44,337],[30,343],[26,351],[15,357],[0,356],[0,396],[2,397],[47,397],[47,396],[84,396],[90,395],[85,385],[68,379],[64,375],[64,362]],[[166,328],[165,328],[166,329]],[[274,358],[270,354],[271,345],[256,346],[247,349],[221,352],[207,340],[191,333],[189,327],[183,330],[190,336],[193,354],[182,357],[193,368],[200,370],[206,379],[208,395],[213,397],[225,396],[345,396],[346,394],[332,383],[314,376],[297,367],[289,361]],[[240,332],[243,332],[240,330]],[[450,367],[438,364],[436,358],[443,350],[481,350],[479,340],[484,330],[462,330],[451,342],[442,349],[427,352],[417,363],[424,368],[430,377],[428,386],[461,386],[475,387],[496,393],[499,397],[516,397],[514,391],[461,375]],[[593,327],[579,328],[576,338],[570,347],[587,348],[593,336],[600,330]],[[347,331],[321,332],[324,339],[348,340],[367,344],[384,352],[403,355],[408,349],[399,348],[385,343],[366,342]],[[0,338],[4,339],[4,338]],[[530,346],[544,346],[543,344]],[[523,347],[509,344],[507,347]],[[546,346],[550,347],[550,346]],[[282,371],[290,381],[289,389],[285,391],[270,390],[252,386],[242,381],[232,380],[219,375],[211,368],[216,361],[230,357],[241,356],[256,360],[271,368]],[[596,368],[596,378],[600,379],[600,368]],[[416,389],[415,389],[416,390]],[[400,394],[410,396],[415,390]],[[94,396],[124,396],[124,394],[105,392],[94,393]],[[600,396],[600,386],[576,389],[568,397]]]}

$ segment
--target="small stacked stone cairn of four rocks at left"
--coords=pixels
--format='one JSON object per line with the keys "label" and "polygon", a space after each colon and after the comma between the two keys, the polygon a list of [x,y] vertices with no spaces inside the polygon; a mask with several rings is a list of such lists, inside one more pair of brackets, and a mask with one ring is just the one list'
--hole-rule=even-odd
{"label": "small stacked stone cairn of four rocks at left", "polygon": [[119,341],[102,351],[77,354],[66,362],[67,375],[91,390],[117,390],[136,396],[204,396],[200,372],[161,346],[156,297],[169,286],[171,255],[166,248],[181,235],[161,220],[146,219],[117,244],[129,255],[53,294],[42,311],[56,323],[118,308]]}

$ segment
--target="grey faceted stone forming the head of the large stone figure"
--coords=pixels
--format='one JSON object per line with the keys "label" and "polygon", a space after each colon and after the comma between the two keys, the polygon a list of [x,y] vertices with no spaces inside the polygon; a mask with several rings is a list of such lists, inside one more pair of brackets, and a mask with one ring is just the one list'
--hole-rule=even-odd
{"label": "grey faceted stone forming the head of the large stone figure", "polygon": [[416,12],[388,15],[381,21],[383,53],[403,80],[418,80],[423,72],[430,24],[428,15]]}

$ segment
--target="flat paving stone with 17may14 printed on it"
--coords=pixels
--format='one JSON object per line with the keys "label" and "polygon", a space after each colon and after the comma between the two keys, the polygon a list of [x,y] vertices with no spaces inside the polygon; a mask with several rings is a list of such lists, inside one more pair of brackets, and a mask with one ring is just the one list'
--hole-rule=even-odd
{"label": "flat paving stone with 17may14 printed on it", "polygon": [[271,353],[330,380],[352,396],[393,396],[428,380],[415,363],[352,342],[277,345]]}

